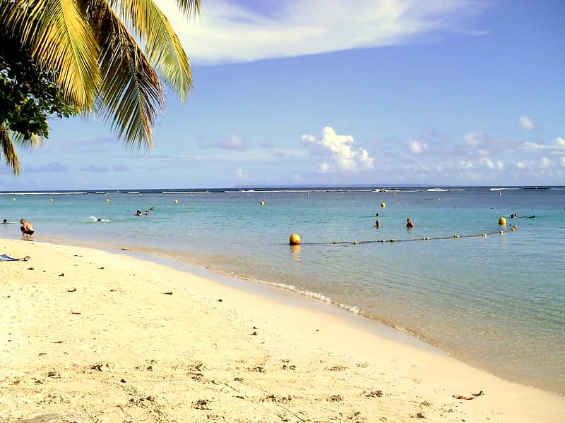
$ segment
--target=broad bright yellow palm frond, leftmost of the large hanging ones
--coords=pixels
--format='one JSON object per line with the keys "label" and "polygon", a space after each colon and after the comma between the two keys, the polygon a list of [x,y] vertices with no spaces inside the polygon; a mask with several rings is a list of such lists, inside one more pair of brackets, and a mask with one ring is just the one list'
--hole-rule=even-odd
{"label": "broad bright yellow palm frond, leftmost of the large hanging ones", "polygon": [[30,47],[42,70],[58,73],[66,99],[88,111],[100,73],[97,44],[80,5],[76,0],[11,0],[0,20]]}

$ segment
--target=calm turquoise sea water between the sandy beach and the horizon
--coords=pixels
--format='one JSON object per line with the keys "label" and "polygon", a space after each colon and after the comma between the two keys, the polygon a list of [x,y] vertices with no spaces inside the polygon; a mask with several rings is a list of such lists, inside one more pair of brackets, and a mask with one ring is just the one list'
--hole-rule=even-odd
{"label": "calm turquoise sea water between the sandy beach and the horizon", "polygon": [[[294,290],[565,393],[562,187],[4,192],[0,214],[31,221],[38,241],[127,247]],[[19,225],[0,238],[20,238]]]}

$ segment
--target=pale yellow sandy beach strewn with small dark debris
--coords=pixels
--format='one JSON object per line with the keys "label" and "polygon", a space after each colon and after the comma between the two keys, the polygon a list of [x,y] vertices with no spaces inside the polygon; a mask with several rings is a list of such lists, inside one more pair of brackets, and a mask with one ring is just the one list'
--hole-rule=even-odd
{"label": "pale yellow sandy beach strewn with small dark debris", "polygon": [[1,245],[31,259],[0,264],[0,422],[565,418],[563,396],[294,299],[90,247]]}

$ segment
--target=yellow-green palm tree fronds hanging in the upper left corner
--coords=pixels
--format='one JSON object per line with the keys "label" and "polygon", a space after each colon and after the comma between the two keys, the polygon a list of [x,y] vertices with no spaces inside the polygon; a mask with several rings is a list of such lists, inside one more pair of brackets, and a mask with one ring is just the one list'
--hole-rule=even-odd
{"label": "yellow-green palm tree fronds hanging in the upper left corner", "polygon": [[[200,0],[177,5],[187,17],[200,11]],[[153,147],[161,81],[182,101],[192,89],[189,60],[153,0],[0,0],[0,31],[18,39],[40,71],[57,75],[66,102],[102,116],[131,147]],[[13,166],[4,127],[0,148]]]}

